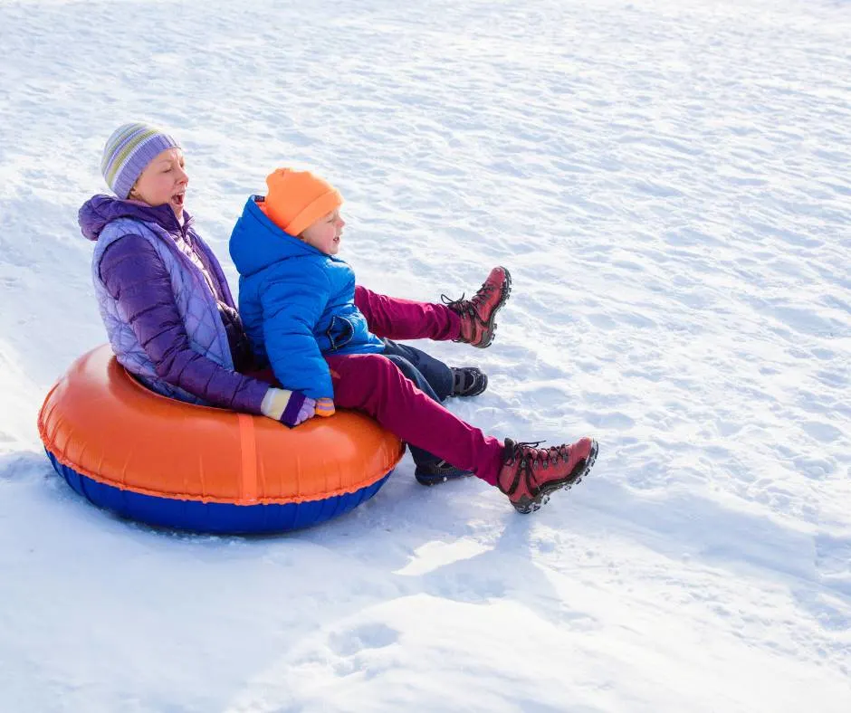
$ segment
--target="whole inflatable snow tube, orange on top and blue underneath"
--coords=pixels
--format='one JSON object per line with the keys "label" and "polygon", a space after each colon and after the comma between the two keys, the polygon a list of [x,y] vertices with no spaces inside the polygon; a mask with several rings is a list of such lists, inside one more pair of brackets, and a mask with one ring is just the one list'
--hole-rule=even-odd
{"label": "whole inflatable snow tube, orange on top and blue underneath", "polygon": [[53,467],[95,505],[196,532],[280,532],[334,518],[375,495],[404,452],[363,414],[291,430],[154,394],[108,345],[53,386],[38,429]]}

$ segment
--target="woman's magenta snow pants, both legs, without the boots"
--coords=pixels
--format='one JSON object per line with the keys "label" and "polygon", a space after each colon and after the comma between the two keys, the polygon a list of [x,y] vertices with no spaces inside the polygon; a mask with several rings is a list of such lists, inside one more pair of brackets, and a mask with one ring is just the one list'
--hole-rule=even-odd
{"label": "woman's magenta snow pants, both legs, without the boots", "polygon": [[[355,289],[355,304],[378,337],[443,341],[454,339],[461,329],[460,318],[445,305],[393,299],[363,287]],[[325,360],[335,404],[363,411],[403,441],[496,484],[502,442],[426,396],[385,356],[329,355]]]}

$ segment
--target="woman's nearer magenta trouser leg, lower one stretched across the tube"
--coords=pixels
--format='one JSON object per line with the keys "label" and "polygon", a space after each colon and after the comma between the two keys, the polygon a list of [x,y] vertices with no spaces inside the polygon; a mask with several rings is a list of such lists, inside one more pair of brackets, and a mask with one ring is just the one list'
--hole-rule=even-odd
{"label": "woman's nearer magenta trouser leg, lower one stretched across the tube", "polygon": [[363,411],[403,441],[496,484],[502,442],[450,414],[380,354],[326,356],[334,402]]}

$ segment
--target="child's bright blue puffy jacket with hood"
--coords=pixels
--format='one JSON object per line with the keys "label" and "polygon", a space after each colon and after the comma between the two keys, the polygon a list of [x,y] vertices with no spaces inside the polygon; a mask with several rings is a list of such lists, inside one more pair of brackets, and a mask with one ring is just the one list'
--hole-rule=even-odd
{"label": "child's bright blue puffy jacket with hood", "polygon": [[282,231],[245,204],[234,226],[231,258],[239,271],[239,311],[253,351],[275,378],[311,398],[333,398],[323,354],[378,354],[383,342],[355,307],[355,273]]}

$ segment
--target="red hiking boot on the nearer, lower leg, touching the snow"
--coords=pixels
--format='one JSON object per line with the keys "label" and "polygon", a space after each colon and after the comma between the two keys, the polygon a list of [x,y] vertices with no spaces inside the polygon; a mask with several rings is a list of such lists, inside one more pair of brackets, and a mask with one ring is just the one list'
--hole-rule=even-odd
{"label": "red hiking boot on the nearer, lower leg, touching the snow", "polygon": [[572,445],[536,448],[537,443],[505,439],[504,460],[497,476],[500,490],[523,514],[534,512],[550,499],[550,493],[570,488],[585,477],[597,459],[598,445],[580,438]]}

